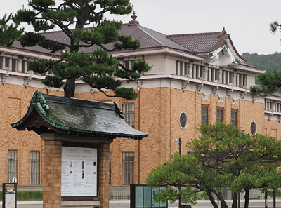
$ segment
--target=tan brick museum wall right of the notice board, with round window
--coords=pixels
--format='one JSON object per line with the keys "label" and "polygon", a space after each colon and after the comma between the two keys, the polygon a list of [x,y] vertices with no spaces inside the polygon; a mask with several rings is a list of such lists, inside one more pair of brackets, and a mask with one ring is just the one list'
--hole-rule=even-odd
{"label": "tan brick museum wall right of the notice board, with round window", "polygon": [[[141,184],[145,183],[151,168],[169,161],[171,154],[178,151],[178,144],[174,142],[176,138],[181,137],[182,154],[187,154],[186,142],[200,136],[197,126],[201,123],[202,104],[209,107],[210,124],[216,123],[217,107],[223,108],[223,121],[227,123],[231,121],[231,109],[237,109],[237,126],[241,130],[249,133],[250,123],[255,121],[258,126],[258,133],[265,134],[264,105],[262,103],[238,100],[237,105],[235,105],[231,97],[224,97],[223,103],[219,103],[218,96],[213,95],[208,97],[209,101],[204,101],[202,93],[173,88],[142,88],[138,94],[138,99],[134,101],[136,108],[135,128],[149,134],[140,142]],[[109,102],[108,97],[105,97],[102,93],[77,94],[77,97]],[[111,101],[117,102],[120,107],[122,107],[122,102],[126,102],[115,97]],[[188,115],[188,127],[186,129],[179,126],[181,112]],[[138,117],[140,117],[140,126],[138,126]],[[270,128],[270,134],[274,136],[277,130],[277,125],[275,125],[275,128]],[[112,185],[122,184],[122,152],[124,151],[135,151],[135,183],[137,183],[138,142],[137,140],[115,139],[110,144]]]}

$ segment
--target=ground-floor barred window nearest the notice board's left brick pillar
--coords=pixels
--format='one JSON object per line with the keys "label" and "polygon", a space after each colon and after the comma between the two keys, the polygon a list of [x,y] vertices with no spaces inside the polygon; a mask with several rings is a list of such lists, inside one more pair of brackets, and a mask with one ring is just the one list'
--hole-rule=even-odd
{"label": "ground-floor barred window nearest the notice board's left brick pillar", "polygon": [[40,184],[40,152],[30,152],[30,184]]}

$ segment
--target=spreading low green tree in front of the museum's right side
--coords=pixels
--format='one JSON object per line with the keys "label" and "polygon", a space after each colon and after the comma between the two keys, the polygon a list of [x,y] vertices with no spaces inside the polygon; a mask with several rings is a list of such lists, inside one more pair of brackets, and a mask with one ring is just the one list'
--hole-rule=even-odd
{"label": "spreading low green tree in front of the museum's right side", "polygon": [[[251,189],[277,190],[280,187],[278,158],[281,143],[268,135],[242,134],[236,126],[226,123],[200,125],[202,137],[188,142],[188,155],[174,154],[171,161],[152,168],[146,183],[166,185],[155,198],[195,204],[197,198],[208,196],[214,208],[228,208],[222,188],[234,192],[233,208],[237,208],[237,194],[245,193],[245,208],[249,207]],[[181,189],[178,189],[181,187]]]}

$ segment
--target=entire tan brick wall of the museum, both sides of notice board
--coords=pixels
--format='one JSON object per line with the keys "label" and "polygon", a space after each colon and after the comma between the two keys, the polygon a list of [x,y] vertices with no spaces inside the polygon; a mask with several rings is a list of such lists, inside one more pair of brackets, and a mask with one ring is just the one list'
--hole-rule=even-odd
{"label": "entire tan brick wall of the museum, both sides of notice board", "polygon": [[[44,154],[44,144],[41,138],[30,131],[20,131],[11,128],[11,123],[18,121],[27,112],[30,98],[35,90],[47,93],[46,89],[25,88],[24,86],[0,84],[0,128],[1,146],[0,182],[8,180],[8,149],[19,151],[18,183],[30,184],[30,151],[40,151],[41,168]],[[136,90],[138,93],[138,91]],[[63,96],[63,92],[51,90],[52,95]],[[77,93],[75,97],[86,100],[117,102],[122,108],[123,102],[135,103],[135,128],[148,137],[140,141],[140,170],[138,172],[138,141],[130,139],[115,139],[110,145],[112,159],[112,185],[122,184],[122,152],[135,153],[135,183],[138,183],[140,173],[141,184],[144,183],[151,168],[168,161],[171,154],[178,151],[178,144],[174,142],[181,137],[183,141],[182,154],[186,154],[186,142],[198,137],[197,125],[201,123],[201,105],[209,107],[209,123],[216,123],[216,107],[223,108],[223,119],[230,122],[231,109],[237,109],[238,125],[246,133],[250,131],[251,121],[257,123],[258,133],[273,135],[281,138],[280,123],[264,119],[264,104],[238,100],[238,106],[233,104],[232,98],[223,98],[224,104],[218,103],[218,96],[209,96],[210,101],[202,100],[202,93],[183,91],[174,88],[141,88],[139,97],[133,101],[122,100],[117,97],[106,97],[103,93]],[[188,115],[188,128],[181,129],[178,123],[181,112]],[[41,169],[42,170],[42,169]],[[42,173],[41,173],[42,176]],[[42,184],[42,182],[41,182]]]}

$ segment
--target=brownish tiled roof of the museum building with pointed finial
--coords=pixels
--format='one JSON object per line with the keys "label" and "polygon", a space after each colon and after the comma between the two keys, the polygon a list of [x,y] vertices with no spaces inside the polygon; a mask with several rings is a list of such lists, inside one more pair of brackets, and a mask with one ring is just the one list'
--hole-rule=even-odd
{"label": "brownish tiled roof of the museum building with pointed finial", "polygon": [[[136,19],[136,16],[132,17]],[[231,45],[235,50],[235,53],[237,53],[237,50],[235,49],[235,46],[230,39],[230,35],[226,34],[224,30],[223,32],[165,35],[139,25],[138,21],[136,21],[135,19],[131,20],[127,24],[124,24],[122,29],[119,30],[119,34],[131,36],[133,39],[138,39],[138,41],[140,41],[141,47],[134,51],[170,48],[171,50],[178,50],[196,55],[200,53],[211,53],[212,51],[223,46],[226,40],[229,39]],[[66,36],[66,34],[64,34],[64,32],[62,31],[45,32],[44,35],[47,39],[51,39],[61,43],[70,43],[69,37]],[[113,43],[107,44],[105,45],[105,47],[108,49],[112,49]],[[45,49],[42,49],[40,47],[34,47],[31,50],[43,50],[44,53],[46,52]],[[80,51],[88,53],[91,53],[92,50],[93,48],[80,48]],[[114,53],[130,51],[133,50],[115,51]],[[239,53],[237,53],[237,55],[240,56]],[[240,56],[240,58],[242,57]],[[242,58],[242,60],[244,59]]]}

